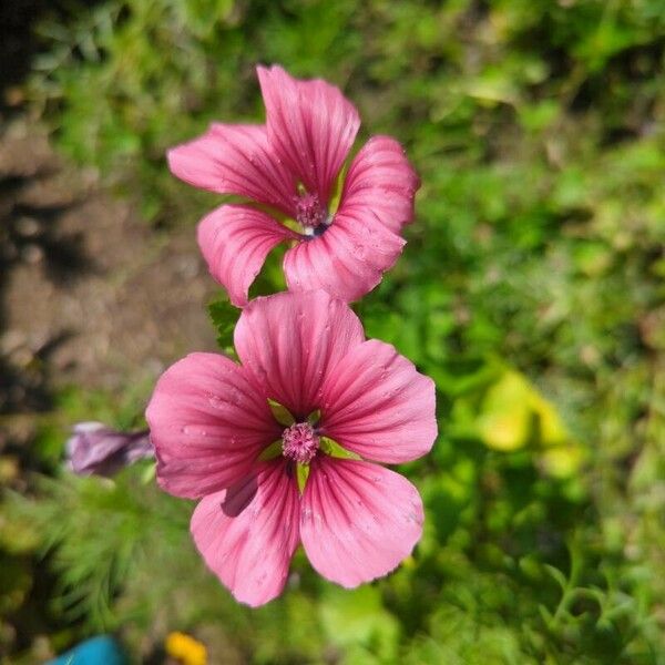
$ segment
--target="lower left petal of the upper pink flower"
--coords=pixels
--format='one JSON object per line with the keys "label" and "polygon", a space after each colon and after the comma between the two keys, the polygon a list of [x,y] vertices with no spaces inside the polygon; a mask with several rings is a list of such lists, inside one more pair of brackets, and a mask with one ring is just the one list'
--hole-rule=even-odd
{"label": "lower left petal of the upper pink flower", "polygon": [[198,246],[208,269],[237,307],[247,304],[249,286],[270,249],[297,237],[269,215],[244,205],[224,205],[198,225]]}

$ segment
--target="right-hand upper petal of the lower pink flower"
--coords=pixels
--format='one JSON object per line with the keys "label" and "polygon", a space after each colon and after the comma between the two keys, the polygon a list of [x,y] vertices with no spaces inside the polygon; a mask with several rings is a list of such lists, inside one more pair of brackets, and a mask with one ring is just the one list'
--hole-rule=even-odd
{"label": "right-hand upper petal of the lower pink flower", "polygon": [[328,372],[321,397],[325,434],[366,459],[408,462],[437,438],[434,382],[377,339],[349,350]]}

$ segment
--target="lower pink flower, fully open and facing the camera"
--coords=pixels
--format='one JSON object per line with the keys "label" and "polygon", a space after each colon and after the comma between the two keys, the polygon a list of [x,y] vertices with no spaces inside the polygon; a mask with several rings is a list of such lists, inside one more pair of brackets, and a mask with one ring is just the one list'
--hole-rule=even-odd
{"label": "lower pink flower, fully open and facing the camera", "polygon": [[432,380],[365,340],[358,317],[323,290],[253,300],[235,347],[242,365],[217,354],[176,362],[146,412],[161,487],[202,498],[192,534],[207,565],[249,605],[282,592],[299,542],[342,586],[393,570],[420,539],[422,503],[374,462],[430,450]]}

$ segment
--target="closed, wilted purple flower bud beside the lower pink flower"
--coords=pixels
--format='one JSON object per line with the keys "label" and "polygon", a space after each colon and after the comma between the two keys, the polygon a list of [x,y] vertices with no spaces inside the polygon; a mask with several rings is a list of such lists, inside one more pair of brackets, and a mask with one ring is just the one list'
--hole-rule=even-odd
{"label": "closed, wilted purple flower bud beside the lower pink flower", "polygon": [[135,461],[154,458],[149,430],[119,432],[102,422],[78,422],[66,442],[70,469],[79,475],[114,475]]}

